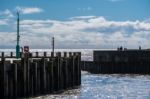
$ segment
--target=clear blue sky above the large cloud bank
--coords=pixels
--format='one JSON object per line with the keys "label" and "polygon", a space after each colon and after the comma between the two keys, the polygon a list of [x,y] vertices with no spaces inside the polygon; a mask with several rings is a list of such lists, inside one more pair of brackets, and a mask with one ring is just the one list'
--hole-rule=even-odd
{"label": "clear blue sky above the large cloud bank", "polygon": [[25,16],[64,20],[73,16],[105,16],[111,20],[143,20],[150,16],[150,0],[1,0],[0,9],[39,7],[43,13]]}

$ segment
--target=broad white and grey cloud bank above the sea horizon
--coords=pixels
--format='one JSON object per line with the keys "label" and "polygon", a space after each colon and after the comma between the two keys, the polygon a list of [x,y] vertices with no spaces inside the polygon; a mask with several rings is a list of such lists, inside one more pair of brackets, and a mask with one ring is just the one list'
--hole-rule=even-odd
{"label": "broad white and grey cloud bank above the sea horizon", "polygon": [[[70,20],[71,19],[71,20]],[[32,48],[50,48],[51,37],[55,37],[56,48],[148,48],[150,44],[150,22],[111,21],[102,16],[78,16],[66,21],[21,20],[21,45]],[[15,24],[15,22],[14,22]],[[15,32],[2,33],[1,45],[14,44]],[[4,39],[7,36],[10,39]],[[3,38],[3,39],[2,39]]]}

